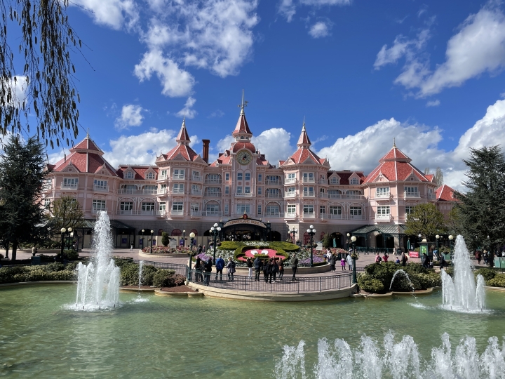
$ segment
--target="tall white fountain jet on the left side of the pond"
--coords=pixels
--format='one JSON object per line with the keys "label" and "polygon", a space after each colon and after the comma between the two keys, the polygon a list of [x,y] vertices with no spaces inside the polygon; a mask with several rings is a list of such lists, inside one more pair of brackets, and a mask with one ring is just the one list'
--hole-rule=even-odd
{"label": "tall white fountain jet on the left side of the pond", "polygon": [[115,308],[119,303],[119,267],[111,258],[112,236],[107,212],[99,212],[88,265],[77,266],[76,310]]}

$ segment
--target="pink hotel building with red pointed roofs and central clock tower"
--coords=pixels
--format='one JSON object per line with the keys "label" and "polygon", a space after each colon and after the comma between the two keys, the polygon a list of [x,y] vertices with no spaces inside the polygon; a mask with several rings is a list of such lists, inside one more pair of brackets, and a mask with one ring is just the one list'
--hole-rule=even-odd
{"label": "pink hotel building with red pointed roofs and central clock tower", "polygon": [[[286,240],[295,229],[295,238],[306,244],[305,231],[314,225],[316,241],[330,233],[344,247],[351,233],[357,246],[389,248],[405,248],[405,220],[414,206],[433,202],[447,215],[454,204],[452,189],[437,189],[433,175],[424,175],[394,144],[365,175],[331,170],[327,159],[311,151],[305,124],[297,150],[276,166],[250,141],[243,107],[231,134],[229,149],[209,162],[210,140],[203,140],[203,157],[196,154],[182,121],[177,146],[154,164],[119,168],[105,161],[87,135],[65,159],[48,164],[43,203],[50,207],[62,196],[79,201],[86,218],[86,227],[77,231],[83,247],[90,244],[96,213],[107,211],[116,247],[140,246],[142,230],[146,237],[151,230],[175,237],[194,232],[198,243],[208,244],[210,227],[221,222],[222,238]],[[260,222],[253,228],[241,222],[227,226],[244,213]]]}

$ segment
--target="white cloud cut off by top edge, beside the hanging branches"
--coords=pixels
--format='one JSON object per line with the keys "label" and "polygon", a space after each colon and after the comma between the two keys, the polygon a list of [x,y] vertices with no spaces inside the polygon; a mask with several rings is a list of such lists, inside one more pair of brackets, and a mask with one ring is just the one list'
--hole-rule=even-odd
{"label": "white cloud cut off by top edge, beside the hanging branches", "polygon": [[97,24],[107,25],[112,29],[135,27],[139,19],[137,4],[134,0],[74,0],[70,6],[81,6],[86,13],[93,14]]}

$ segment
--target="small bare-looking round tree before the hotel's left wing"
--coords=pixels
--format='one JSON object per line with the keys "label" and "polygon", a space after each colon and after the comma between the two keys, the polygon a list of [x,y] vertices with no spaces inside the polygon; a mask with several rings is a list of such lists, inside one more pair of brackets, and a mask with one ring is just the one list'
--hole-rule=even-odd
{"label": "small bare-looking round tree before the hotel's left wing", "polygon": [[84,213],[81,209],[79,201],[73,197],[63,196],[56,199],[53,203],[50,218],[51,234],[60,234],[62,227],[82,227],[84,225]]}

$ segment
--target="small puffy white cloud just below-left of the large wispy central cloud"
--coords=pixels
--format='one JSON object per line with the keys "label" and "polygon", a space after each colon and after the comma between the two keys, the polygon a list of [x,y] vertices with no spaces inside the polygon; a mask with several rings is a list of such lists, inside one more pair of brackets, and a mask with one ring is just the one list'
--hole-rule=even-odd
{"label": "small puffy white cloud just below-left of the large wispy central cloud", "polygon": [[163,56],[160,50],[148,51],[138,65],[135,65],[135,75],[140,81],[151,79],[155,73],[163,85],[163,95],[180,97],[189,95],[195,80],[189,72],[180,69],[176,62]]}

